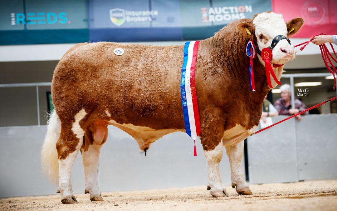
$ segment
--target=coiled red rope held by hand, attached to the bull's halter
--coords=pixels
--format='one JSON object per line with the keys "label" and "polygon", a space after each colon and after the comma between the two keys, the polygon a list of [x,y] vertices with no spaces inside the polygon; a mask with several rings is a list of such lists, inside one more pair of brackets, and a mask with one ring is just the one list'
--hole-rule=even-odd
{"label": "coiled red rope held by hand, attached to the bull's halter", "polygon": [[[315,36],[318,36],[318,35],[327,35],[326,33],[319,33],[319,34],[316,34]],[[303,45],[301,48],[300,48],[300,51],[303,51],[303,49],[315,38],[315,36],[312,36],[308,41],[304,42],[304,43],[300,43],[296,46],[294,46],[295,48],[298,47],[298,46],[301,46]],[[330,43],[330,46],[332,48],[332,51],[334,52],[335,54],[335,57],[337,59],[337,54],[335,52],[335,49],[334,47],[332,46],[332,44]],[[323,61],[325,63],[325,67],[327,68],[327,70],[334,76],[334,80],[335,80],[335,83],[334,83],[334,87],[333,87],[333,90],[335,90],[335,87],[336,87],[336,76],[334,73],[337,74],[337,70],[335,68],[335,66],[333,65],[330,57],[337,63],[337,60],[331,55],[330,51],[328,50],[327,46],[323,43],[321,45],[319,45],[319,49],[320,49],[320,53],[322,54],[322,58],[323,58]],[[330,56],[330,57],[329,57]],[[329,63],[331,64],[332,68],[334,71],[331,70],[330,66],[329,66],[329,63],[328,63],[328,60],[329,60]]]}

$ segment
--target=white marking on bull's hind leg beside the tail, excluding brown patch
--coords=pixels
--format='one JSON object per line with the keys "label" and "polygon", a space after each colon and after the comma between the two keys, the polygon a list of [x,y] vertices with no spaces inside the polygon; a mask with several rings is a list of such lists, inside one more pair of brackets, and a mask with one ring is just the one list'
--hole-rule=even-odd
{"label": "white marking on bull's hind leg beside the tail, excluding brown patch", "polygon": [[69,197],[71,198],[74,196],[74,193],[72,192],[72,187],[71,187],[71,169],[77,157],[79,149],[82,146],[84,130],[81,128],[79,123],[86,114],[87,113],[85,112],[84,109],[79,111],[75,115],[75,122],[72,124],[71,131],[79,139],[79,142],[75,148],[75,151],[72,153],[69,153],[69,155],[65,159],[59,160],[60,179],[59,179],[58,190],[61,192],[61,195],[62,195],[61,199],[66,199]]}

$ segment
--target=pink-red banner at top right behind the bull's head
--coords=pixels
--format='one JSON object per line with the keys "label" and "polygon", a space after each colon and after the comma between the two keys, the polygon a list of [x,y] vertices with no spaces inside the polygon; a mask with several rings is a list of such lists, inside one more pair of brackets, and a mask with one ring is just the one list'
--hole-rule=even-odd
{"label": "pink-red banner at top right behind the bull's head", "polygon": [[272,0],[272,8],[282,14],[285,22],[303,18],[304,25],[292,37],[309,38],[321,32],[337,34],[336,0]]}

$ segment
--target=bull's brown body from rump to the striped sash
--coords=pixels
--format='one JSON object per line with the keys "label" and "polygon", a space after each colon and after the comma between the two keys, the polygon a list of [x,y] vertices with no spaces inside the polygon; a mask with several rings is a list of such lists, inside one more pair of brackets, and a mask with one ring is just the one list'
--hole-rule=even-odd
{"label": "bull's brown body from rump to the striped sash", "polygon": [[[116,48],[124,54],[114,54]],[[84,108],[95,120],[109,113],[120,124],[184,128],[182,63],[183,46],[78,44],[54,71],[53,104],[59,116]]]}

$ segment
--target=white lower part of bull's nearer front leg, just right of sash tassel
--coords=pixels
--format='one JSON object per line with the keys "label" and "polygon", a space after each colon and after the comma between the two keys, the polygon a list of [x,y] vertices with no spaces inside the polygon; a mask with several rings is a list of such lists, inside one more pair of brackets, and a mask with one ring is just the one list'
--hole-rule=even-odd
{"label": "white lower part of bull's nearer front leg, just right of sash tassel", "polygon": [[208,162],[208,187],[211,188],[213,197],[228,196],[225,186],[222,184],[219,172],[219,163],[222,158],[222,139],[214,150],[204,150]]}

